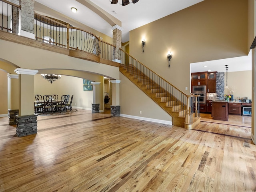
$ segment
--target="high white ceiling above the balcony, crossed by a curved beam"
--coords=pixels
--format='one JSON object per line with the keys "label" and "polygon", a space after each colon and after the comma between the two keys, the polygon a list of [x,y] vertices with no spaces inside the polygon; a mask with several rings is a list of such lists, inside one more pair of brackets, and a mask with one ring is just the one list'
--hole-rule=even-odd
{"label": "high white ceiling above the balcony, crossed by a curved beam", "polygon": [[[66,16],[73,18],[95,30],[112,37],[110,24],[98,16],[95,12],[79,3],[79,0],[35,0]],[[84,0],[89,2],[89,0]],[[117,4],[111,4],[110,0],[90,0],[122,22],[122,42],[129,41],[129,31],[164,16],[202,2],[203,0],[139,0],[122,6],[122,0]],[[130,0],[130,2],[132,2]],[[71,12],[71,7],[77,8],[77,12]]]}

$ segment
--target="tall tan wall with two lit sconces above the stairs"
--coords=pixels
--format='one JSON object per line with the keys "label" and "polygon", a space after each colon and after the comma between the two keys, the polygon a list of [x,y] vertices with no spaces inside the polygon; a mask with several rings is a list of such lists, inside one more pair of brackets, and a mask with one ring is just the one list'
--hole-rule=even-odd
{"label": "tall tan wall with two lit sconces above the stairs", "polygon": [[130,55],[190,94],[190,63],[248,55],[247,19],[247,0],[204,0],[130,31]]}

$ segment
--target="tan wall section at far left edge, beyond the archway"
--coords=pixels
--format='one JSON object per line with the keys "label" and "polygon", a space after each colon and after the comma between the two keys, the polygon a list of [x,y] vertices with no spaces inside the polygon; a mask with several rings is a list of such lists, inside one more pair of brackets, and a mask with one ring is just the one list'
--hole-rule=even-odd
{"label": "tan wall section at far left edge, beyond the archway", "polygon": [[0,70],[0,115],[1,114],[8,114],[8,103],[7,103],[7,96],[8,96],[8,77],[7,73]]}

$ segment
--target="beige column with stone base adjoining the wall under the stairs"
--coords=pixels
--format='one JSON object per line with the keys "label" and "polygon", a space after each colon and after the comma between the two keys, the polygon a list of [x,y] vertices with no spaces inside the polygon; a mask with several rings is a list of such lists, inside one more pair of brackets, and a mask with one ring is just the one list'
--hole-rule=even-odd
{"label": "beige column with stone base adjoining the wall under the stairs", "polygon": [[112,83],[112,105],[110,112],[112,117],[120,116],[120,80],[110,80]]}

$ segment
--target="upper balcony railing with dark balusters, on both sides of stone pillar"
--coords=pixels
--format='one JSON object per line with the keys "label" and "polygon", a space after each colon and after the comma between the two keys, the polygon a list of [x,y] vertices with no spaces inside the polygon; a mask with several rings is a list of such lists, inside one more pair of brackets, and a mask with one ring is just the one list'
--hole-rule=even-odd
{"label": "upper balcony railing with dark balusters, on both sides of stone pillar", "polygon": [[[0,0],[0,30],[18,34],[20,6]],[[113,61],[115,46],[101,41],[90,32],[70,24],[39,14],[34,17],[35,40],[71,50],[94,54],[101,59]]]}

